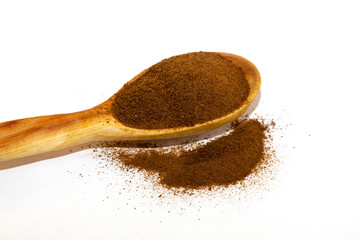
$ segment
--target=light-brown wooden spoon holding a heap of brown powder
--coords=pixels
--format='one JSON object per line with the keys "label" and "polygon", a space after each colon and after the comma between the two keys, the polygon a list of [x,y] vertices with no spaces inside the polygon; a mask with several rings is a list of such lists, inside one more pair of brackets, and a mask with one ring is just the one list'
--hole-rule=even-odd
{"label": "light-brown wooden spoon holding a heap of brown powder", "polygon": [[[219,53],[239,66],[250,85],[250,94],[241,107],[215,120],[158,130],[130,128],[112,115],[115,95],[91,109],[51,116],[33,117],[0,123],[0,160],[10,160],[34,154],[60,150],[91,141],[167,139],[197,134],[215,129],[239,118],[250,106],[260,89],[260,74],[247,59],[228,53]],[[131,81],[135,81],[147,70]]]}

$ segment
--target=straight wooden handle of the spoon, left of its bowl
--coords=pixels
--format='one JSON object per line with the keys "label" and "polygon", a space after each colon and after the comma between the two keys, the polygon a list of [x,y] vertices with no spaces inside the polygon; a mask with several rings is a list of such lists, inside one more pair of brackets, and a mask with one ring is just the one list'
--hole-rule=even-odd
{"label": "straight wooden handle of the spoon, left of its bowl", "polygon": [[91,141],[95,120],[96,113],[87,110],[0,123],[0,161]]}

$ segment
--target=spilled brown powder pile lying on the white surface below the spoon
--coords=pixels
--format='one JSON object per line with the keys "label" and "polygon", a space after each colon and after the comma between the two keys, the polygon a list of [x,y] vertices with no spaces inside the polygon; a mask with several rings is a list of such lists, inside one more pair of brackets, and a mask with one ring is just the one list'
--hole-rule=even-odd
{"label": "spilled brown powder pile lying on the white surface below the spoon", "polygon": [[[190,150],[181,145],[166,148],[117,142],[95,152],[123,170],[143,170],[149,176],[158,176],[159,183],[167,188],[228,186],[245,180],[271,162],[274,156],[270,133],[274,125],[258,119],[236,121],[229,134]],[[132,151],[134,148],[138,151]]]}

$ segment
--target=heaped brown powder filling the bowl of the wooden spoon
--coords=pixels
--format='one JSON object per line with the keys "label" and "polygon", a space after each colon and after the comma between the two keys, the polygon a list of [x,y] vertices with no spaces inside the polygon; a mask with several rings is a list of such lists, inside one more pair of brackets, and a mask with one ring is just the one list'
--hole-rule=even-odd
{"label": "heaped brown powder filling the bowl of the wooden spoon", "polygon": [[115,96],[113,115],[139,129],[190,127],[231,113],[249,95],[242,70],[221,55],[195,52],[165,59]]}

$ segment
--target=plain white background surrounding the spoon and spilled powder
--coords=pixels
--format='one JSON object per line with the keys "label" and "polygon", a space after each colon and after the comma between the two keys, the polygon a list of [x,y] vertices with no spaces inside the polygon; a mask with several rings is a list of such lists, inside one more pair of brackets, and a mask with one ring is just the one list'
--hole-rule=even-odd
{"label": "plain white background surrounding the spoon and spilled powder", "polygon": [[2,163],[0,239],[359,239],[357,1],[124,2],[1,1],[0,122],[90,108],[173,55],[234,53],[262,75],[254,113],[289,124],[275,183],[159,200],[91,150]]}

